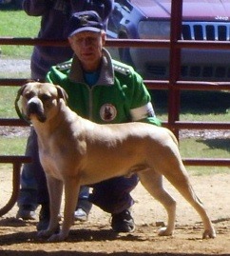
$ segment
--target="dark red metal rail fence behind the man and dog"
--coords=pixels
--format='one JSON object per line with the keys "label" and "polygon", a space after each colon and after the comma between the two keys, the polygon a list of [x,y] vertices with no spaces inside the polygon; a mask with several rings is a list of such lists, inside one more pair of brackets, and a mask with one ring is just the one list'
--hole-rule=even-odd
{"label": "dark red metal rail fence behind the man and dog", "polygon": [[[165,81],[145,80],[148,89],[168,90],[168,121],[163,125],[173,130],[178,135],[180,129],[230,129],[230,122],[182,122],[180,121],[180,92],[186,90],[230,90],[230,83],[216,82],[192,82],[180,81],[181,70],[181,49],[230,49],[229,42],[214,41],[182,41],[182,0],[172,1],[171,6],[171,35],[170,40],[106,40],[106,47],[124,48],[167,48],[170,49],[170,73],[169,79]],[[0,38],[0,45],[52,45],[67,46],[67,41],[41,40],[37,38]],[[23,79],[0,79],[0,86],[22,86],[28,78]],[[19,119],[0,119],[0,126],[28,126]],[[28,163],[30,159],[25,156],[0,156],[0,163],[11,163],[13,166],[12,187],[13,192],[6,207],[0,209],[0,216],[6,214],[16,202],[19,191],[20,168],[23,163]],[[187,166],[219,166],[229,167],[230,159],[183,159]]]}

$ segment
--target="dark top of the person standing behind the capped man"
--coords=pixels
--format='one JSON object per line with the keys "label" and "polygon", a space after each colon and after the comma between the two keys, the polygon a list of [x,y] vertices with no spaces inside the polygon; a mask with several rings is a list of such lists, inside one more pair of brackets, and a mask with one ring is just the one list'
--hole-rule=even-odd
{"label": "dark top of the person standing behind the capped man", "polygon": [[[96,10],[107,21],[113,0],[24,0],[23,8],[31,16],[41,16],[38,38],[67,39],[67,23],[71,14]],[[35,46],[31,56],[31,78],[45,79],[48,70],[72,57],[70,47]]]}

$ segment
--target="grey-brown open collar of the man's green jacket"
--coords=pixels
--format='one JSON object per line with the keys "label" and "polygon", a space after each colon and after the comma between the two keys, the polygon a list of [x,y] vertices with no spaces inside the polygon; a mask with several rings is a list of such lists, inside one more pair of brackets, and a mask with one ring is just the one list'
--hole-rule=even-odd
{"label": "grey-brown open collar of the man's green jacket", "polygon": [[[76,55],[73,56],[72,65],[69,72],[69,79],[75,83],[85,84],[83,69],[80,60]],[[114,84],[114,69],[112,59],[106,49],[103,49],[102,66],[100,76],[96,85],[113,85]]]}

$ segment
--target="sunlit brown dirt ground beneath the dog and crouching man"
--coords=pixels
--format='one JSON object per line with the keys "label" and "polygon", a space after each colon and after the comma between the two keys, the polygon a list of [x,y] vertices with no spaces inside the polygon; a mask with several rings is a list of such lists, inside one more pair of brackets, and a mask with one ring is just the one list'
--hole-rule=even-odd
{"label": "sunlit brown dirt ground beneath the dog and crouching man", "polygon": [[[201,219],[174,187],[165,187],[178,201],[177,226],[172,237],[159,237],[158,222],[166,224],[164,209],[139,185],[133,191],[136,230],[116,234],[109,214],[93,207],[86,223],[75,223],[63,243],[48,243],[36,236],[36,221],[16,220],[17,207],[0,218],[1,256],[100,255],[230,255],[230,174],[193,176],[192,184],[217,229],[217,238],[202,240]],[[10,196],[10,171],[0,171],[0,207]],[[39,212],[39,208],[37,210]]]}

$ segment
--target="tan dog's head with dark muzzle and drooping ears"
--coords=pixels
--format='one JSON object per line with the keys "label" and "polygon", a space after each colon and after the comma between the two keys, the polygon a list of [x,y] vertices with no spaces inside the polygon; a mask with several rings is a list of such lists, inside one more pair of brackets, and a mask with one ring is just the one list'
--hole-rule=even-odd
{"label": "tan dog's head with dark muzzle and drooping ears", "polygon": [[58,113],[60,104],[67,103],[67,92],[49,83],[29,82],[18,90],[22,96],[22,113],[31,122],[46,122]]}

